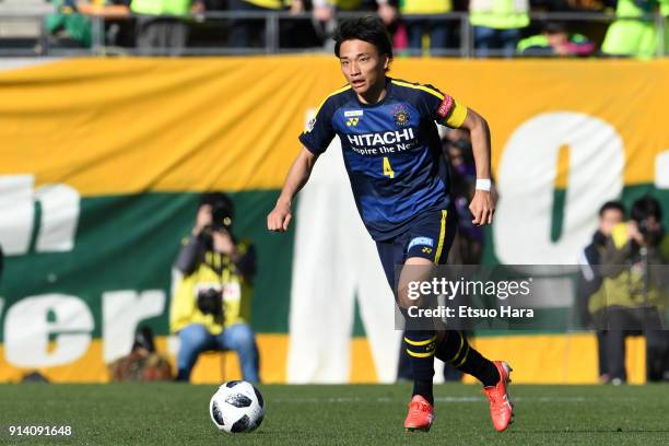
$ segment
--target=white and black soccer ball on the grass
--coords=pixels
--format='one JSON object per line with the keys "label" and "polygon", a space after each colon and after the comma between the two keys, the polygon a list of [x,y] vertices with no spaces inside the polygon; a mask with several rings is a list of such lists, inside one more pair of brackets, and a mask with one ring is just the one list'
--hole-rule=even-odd
{"label": "white and black soccer ball on the grass", "polygon": [[211,421],[220,431],[235,434],[255,431],[265,418],[265,401],[250,383],[223,383],[209,401]]}

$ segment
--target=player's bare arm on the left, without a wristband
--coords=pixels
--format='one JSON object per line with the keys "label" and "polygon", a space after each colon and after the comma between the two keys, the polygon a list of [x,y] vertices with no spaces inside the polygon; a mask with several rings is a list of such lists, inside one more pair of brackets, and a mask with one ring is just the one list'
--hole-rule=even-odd
{"label": "player's bare arm on the left, without a wristband", "polygon": [[302,189],[309,179],[316,160],[318,160],[317,155],[302,148],[285,177],[283,188],[281,188],[281,195],[277,200],[277,206],[274,206],[272,212],[267,215],[268,230],[274,232],[287,231],[289,224],[293,219],[291,212],[293,198],[295,198],[300,189]]}

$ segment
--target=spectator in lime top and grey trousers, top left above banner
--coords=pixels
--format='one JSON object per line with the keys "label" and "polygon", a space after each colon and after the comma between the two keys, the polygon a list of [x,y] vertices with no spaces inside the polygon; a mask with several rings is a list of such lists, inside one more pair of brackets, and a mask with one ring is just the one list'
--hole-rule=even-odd
{"label": "spectator in lime top and grey trousers, top left above banner", "polygon": [[137,48],[142,55],[178,56],[188,43],[191,13],[204,11],[203,0],[132,0],[137,14]]}

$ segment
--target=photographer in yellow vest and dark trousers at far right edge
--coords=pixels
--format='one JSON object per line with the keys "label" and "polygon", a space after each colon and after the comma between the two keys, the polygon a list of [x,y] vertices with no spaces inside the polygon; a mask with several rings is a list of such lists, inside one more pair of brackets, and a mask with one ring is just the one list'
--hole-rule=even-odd
{"label": "photographer in yellow vest and dark trousers at far right edge", "polygon": [[641,198],[630,213],[632,220],[613,226],[607,238],[601,253],[602,285],[588,305],[596,324],[608,329],[602,339],[612,384],[626,382],[625,337],[639,330],[646,338],[647,379],[669,378],[669,332],[662,330],[668,278],[657,269],[668,262],[669,236],[657,200]]}

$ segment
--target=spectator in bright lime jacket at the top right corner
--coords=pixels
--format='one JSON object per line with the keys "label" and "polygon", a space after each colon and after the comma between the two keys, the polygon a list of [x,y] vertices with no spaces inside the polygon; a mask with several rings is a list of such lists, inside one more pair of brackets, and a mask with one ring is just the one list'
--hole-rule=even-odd
{"label": "spectator in bright lime jacket at the top right corner", "polygon": [[[669,15],[669,0],[618,0],[617,19],[607,31],[601,51],[610,56],[632,56],[649,58],[657,54],[659,42],[658,30],[653,16],[646,14],[660,12]],[[665,35],[665,37],[667,37]]]}

